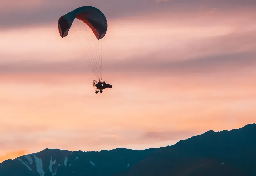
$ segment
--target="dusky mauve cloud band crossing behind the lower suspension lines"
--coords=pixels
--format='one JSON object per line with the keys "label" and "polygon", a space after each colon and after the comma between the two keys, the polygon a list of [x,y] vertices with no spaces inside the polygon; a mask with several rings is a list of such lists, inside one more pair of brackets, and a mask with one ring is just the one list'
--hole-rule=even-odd
{"label": "dusky mauve cloud band crossing behind the lower suspension lines", "polygon": [[[238,52],[232,54],[213,54],[190,60],[147,62],[120,61],[104,66],[104,73],[155,73],[169,72],[170,74],[207,74],[216,72],[234,72],[246,67],[256,67],[256,52]],[[148,58],[147,58],[148,59]],[[153,58],[154,59],[154,58]],[[141,60],[144,60],[141,61]],[[26,62],[0,65],[2,73],[91,73],[85,63],[75,61],[55,63]]]}

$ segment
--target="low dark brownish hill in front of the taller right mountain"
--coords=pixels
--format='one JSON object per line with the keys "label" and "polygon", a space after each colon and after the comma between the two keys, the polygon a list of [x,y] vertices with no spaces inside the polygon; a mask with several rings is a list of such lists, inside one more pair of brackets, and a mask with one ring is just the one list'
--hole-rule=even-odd
{"label": "low dark brownish hill in front of the taller right mountain", "polygon": [[211,158],[173,158],[155,153],[140,161],[131,170],[113,176],[245,176],[220,160]]}

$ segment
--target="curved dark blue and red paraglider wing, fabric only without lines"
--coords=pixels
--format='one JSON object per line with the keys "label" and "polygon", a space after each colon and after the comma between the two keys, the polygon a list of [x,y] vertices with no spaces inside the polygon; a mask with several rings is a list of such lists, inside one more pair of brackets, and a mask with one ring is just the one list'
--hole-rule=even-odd
{"label": "curved dark blue and red paraglider wing, fabric only without lines", "polygon": [[105,36],[108,27],[105,15],[95,7],[83,6],[59,18],[58,29],[62,38],[68,36],[68,31],[75,18],[87,24],[98,40]]}

